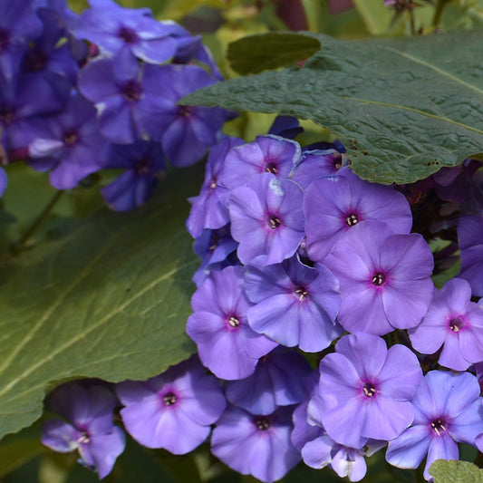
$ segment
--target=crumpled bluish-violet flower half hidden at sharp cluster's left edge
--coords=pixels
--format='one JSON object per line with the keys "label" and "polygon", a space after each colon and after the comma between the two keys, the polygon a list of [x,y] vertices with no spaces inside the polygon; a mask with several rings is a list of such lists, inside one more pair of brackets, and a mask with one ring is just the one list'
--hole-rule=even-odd
{"label": "crumpled bluish-violet flower half hidden at sharp cluster's left edge", "polygon": [[229,224],[217,230],[204,230],[194,243],[195,253],[201,258],[201,265],[192,279],[195,285],[201,285],[212,270],[240,265],[237,246],[231,237]]}

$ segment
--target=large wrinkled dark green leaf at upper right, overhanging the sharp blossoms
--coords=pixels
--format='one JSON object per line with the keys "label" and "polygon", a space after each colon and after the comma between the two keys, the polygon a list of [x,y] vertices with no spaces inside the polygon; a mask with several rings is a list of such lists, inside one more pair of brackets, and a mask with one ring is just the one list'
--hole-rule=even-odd
{"label": "large wrinkled dark green leaf at upper right, overhanging the sharp blossoms", "polygon": [[363,179],[410,183],[483,152],[483,32],[343,41],[303,68],[219,82],[181,102],[310,119]]}

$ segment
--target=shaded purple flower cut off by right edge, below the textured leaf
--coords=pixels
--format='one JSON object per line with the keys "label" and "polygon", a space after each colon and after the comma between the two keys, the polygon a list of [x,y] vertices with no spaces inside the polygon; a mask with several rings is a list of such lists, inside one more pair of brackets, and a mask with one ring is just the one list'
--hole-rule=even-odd
{"label": "shaded purple flower cut off by right edge, below the textured leaf", "polygon": [[458,241],[461,250],[459,277],[469,281],[473,295],[483,295],[483,216],[460,217]]}

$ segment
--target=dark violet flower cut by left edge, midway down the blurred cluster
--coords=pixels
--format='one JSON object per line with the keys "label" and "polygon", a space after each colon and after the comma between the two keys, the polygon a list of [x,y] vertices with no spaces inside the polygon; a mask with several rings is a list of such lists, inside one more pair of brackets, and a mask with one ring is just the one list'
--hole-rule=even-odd
{"label": "dark violet flower cut by left edge, midway down the blurred cluster", "polygon": [[0,130],[5,150],[26,148],[44,131],[44,116],[63,109],[68,96],[64,97],[66,92],[59,95],[57,87],[42,74],[24,73],[10,81],[0,76]]}

